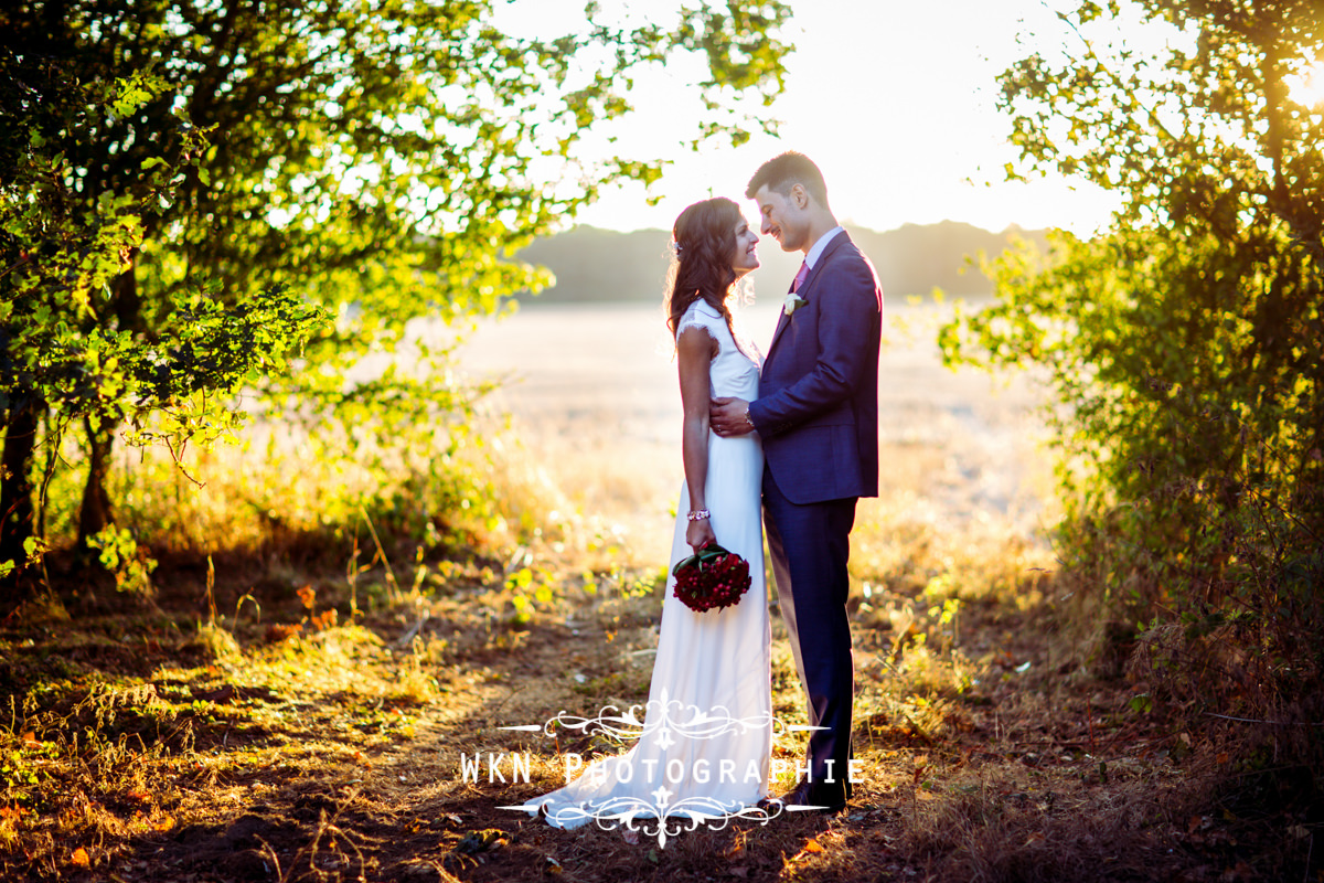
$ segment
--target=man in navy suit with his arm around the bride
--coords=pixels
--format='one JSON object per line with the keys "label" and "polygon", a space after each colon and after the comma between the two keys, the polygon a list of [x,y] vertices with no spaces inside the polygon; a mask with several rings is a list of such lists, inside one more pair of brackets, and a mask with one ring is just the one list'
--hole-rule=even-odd
{"label": "man in navy suit with his arm around the bride", "polygon": [[757,430],[763,507],[777,598],[809,696],[808,769],[782,797],[837,812],[850,797],[854,671],[846,596],[855,500],[878,495],[878,275],[828,207],[822,172],[786,152],[764,163],[745,196],[764,236],[805,261],[772,335],[759,398],[715,398],[719,436]]}

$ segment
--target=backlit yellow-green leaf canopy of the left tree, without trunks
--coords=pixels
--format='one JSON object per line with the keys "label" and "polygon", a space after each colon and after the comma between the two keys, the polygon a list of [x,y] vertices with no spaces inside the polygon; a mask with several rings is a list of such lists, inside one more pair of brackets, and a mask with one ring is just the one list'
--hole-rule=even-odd
{"label": "backlit yellow-green leaf canopy of the left tree, without trunks", "polygon": [[314,279],[318,301],[361,310],[361,352],[402,307],[453,318],[536,285],[502,252],[606,180],[657,176],[657,163],[577,154],[596,123],[630,110],[637,68],[702,50],[714,101],[727,86],[780,87],[785,48],[765,33],[786,15],[776,3],[686,11],[674,30],[591,20],[556,40],[502,33],[494,5],[33,3],[8,24],[15,44],[68,60],[82,82],[154,60],[173,85],[135,116],[81,127],[68,147],[86,193],[115,189],[180,111],[214,130],[150,230],[160,242],[136,267],[146,289],[195,270],[228,287]]}

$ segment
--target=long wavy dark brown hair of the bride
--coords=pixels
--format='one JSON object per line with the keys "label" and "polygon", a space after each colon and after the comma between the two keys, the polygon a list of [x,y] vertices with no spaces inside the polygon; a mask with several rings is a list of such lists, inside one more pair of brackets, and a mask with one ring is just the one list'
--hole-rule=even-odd
{"label": "long wavy dark brown hair of the bride", "polygon": [[731,267],[736,253],[736,224],[740,207],[724,196],[703,200],[681,212],[671,228],[675,257],[667,273],[667,327],[675,336],[681,316],[703,298],[731,324],[727,297],[736,282]]}

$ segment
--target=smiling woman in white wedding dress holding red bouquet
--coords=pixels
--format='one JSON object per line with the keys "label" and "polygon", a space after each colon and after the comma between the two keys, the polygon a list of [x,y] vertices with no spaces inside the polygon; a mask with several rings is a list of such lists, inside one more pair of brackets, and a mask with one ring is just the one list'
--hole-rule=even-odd
{"label": "smiling woman in white wedding dress holding red bouquet", "polygon": [[768,796],[773,721],[763,447],[755,433],[720,438],[708,429],[712,397],[757,397],[757,355],[736,342],[727,299],[736,281],[759,266],[759,236],[736,203],[719,197],[685,209],[673,237],[666,307],[685,406],[685,485],[671,567],[715,541],[749,563],[752,584],[736,605],[695,613],[675,597],[675,577],[669,577],[638,743],[522,806],[557,827],[591,818],[683,817],[696,823]]}

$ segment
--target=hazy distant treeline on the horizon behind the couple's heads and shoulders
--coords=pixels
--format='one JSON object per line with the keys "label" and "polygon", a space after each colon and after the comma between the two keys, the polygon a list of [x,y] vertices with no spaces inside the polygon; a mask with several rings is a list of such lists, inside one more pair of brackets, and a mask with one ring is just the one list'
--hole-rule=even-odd
{"label": "hazy distant treeline on the horizon behind the couple's heads and shoulders", "polygon": [[[1043,230],[1017,226],[990,233],[970,224],[907,224],[878,233],[846,225],[850,236],[878,267],[883,291],[891,297],[928,294],[935,287],[947,294],[988,294],[992,285],[972,258],[981,252],[993,257],[1016,237],[1046,248]],[[539,263],[556,274],[556,285],[536,299],[524,302],[571,303],[604,301],[655,301],[662,297],[670,261],[666,230],[620,233],[594,226],[576,226],[539,240],[518,253],[522,261]],[[780,290],[794,275],[800,253],[785,254],[771,237],[759,242],[763,266],[755,273],[757,291]]]}

